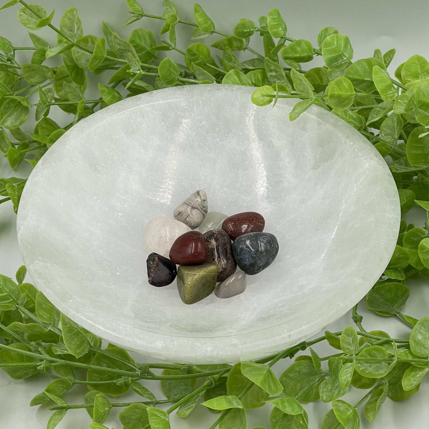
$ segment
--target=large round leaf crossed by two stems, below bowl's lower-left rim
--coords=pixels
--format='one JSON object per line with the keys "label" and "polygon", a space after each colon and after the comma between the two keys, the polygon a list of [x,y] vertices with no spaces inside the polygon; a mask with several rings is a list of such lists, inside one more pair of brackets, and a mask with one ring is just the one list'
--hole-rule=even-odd
{"label": "large round leaf crossed by two stems, below bowl's lower-left rim", "polygon": [[[88,343],[89,344],[89,343]],[[133,363],[133,359],[131,356],[125,351],[124,349],[121,349],[119,347],[109,347],[108,351],[113,356],[116,356],[117,358],[120,358],[121,360],[125,360],[127,362]],[[121,371],[129,371],[130,367],[124,363],[121,362],[118,359],[115,359],[111,356],[106,356],[102,353],[96,353],[94,356],[94,359],[91,361],[91,365],[93,366],[103,366],[105,368],[113,368],[113,369],[119,369]],[[111,373],[111,372],[104,372],[101,369],[88,369],[87,372],[87,380],[88,381],[105,381],[105,383],[97,384],[97,385],[88,385],[88,388],[91,390],[98,390],[101,393],[104,393],[106,395],[110,396],[120,396],[123,395],[128,391],[130,388],[129,385],[118,385],[116,384],[116,381],[112,383],[112,380],[116,380],[118,378],[118,375]]]}

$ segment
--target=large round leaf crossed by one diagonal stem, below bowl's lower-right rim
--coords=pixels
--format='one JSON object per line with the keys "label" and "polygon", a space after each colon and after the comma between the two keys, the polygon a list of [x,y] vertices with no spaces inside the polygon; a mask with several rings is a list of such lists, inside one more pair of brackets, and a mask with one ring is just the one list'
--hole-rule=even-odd
{"label": "large round leaf crossed by one diagonal stem, below bowl's lower-right rim", "polygon": [[[299,360],[294,362],[279,378],[280,383],[283,386],[283,393],[286,396],[297,396],[302,390],[304,390],[309,384],[313,383],[317,378],[322,375],[320,369],[315,369],[312,363]],[[322,381],[320,381],[321,383]],[[300,399],[300,402],[307,404],[308,402],[314,402],[319,399],[319,385],[320,383],[311,387],[311,389],[305,393]]]}

